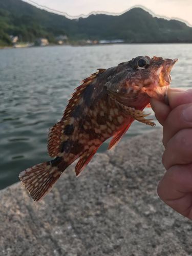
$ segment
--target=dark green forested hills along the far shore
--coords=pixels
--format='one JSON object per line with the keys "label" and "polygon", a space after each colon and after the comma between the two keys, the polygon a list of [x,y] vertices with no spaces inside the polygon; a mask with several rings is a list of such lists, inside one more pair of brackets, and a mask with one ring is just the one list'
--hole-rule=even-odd
{"label": "dark green forested hills along the far shore", "polygon": [[20,41],[68,35],[70,40],[123,39],[126,42],[192,42],[192,28],[178,20],[153,17],[141,8],[121,15],[92,14],[69,19],[38,9],[21,0],[0,1],[0,45],[11,45],[9,35]]}

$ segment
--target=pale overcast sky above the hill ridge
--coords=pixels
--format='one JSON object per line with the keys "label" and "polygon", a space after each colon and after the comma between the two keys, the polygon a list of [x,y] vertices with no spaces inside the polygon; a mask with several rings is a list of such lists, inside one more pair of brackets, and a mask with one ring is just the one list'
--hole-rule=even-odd
{"label": "pale overcast sky above the hill ridge", "polygon": [[[24,0],[70,16],[91,12],[122,13],[134,6],[143,6],[154,14],[186,20],[192,25],[192,0]],[[46,8],[45,8],[46,9]]]}

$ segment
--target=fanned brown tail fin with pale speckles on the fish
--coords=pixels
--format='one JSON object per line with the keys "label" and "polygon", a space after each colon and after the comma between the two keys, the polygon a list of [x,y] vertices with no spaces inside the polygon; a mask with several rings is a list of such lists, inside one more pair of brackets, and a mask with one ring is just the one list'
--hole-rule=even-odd
{"label": "fanned brown tail fin with pale speckles on the fish", "polygon": [[50,191],[62,172],[49,162],[40,163],[24,170],[19,178],[34,201],[39,201]]}

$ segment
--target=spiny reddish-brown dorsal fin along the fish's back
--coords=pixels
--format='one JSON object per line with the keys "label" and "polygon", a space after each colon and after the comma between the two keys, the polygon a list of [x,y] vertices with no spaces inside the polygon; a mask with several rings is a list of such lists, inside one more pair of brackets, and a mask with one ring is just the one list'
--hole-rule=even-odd
{"label": "spiny reddish-brown dorsal fin along the fish's back", "polygon": [[98,69],[98,72],[92,74],[90,77],[84,79],[82,84],[75,89],[75,92],[72,94],[71,99],[66,107],[66,110],[63,113],[61,120],[56,123],[50,130],[48,136],[48,153],[50,157],[56,157],[60,153],[62,142],[67,140],[67,136],[63,133],[65,127],[70,124],[70,114],[78,105],[79,101],[82,98],[84,89],[86,89],[97,76],[103,73],[105,69]]}

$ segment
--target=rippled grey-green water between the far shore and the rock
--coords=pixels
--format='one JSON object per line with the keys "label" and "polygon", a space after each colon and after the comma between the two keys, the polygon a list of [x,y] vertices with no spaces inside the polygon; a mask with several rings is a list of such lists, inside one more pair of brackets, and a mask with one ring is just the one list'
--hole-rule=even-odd
{"label": "rippled grey-green water between the far shore and the rock", "polygon": [[[0,189],[18,181],[19,172],[25,168],[50,159],[49,128],[61,118],[67,99],[83,78],[97,68],[116,66],[139,55],[179,58],[172,72],[172,86],[191,87],[192,45],[0,50]],[[154,129],[134,122],[123,138]]]}

